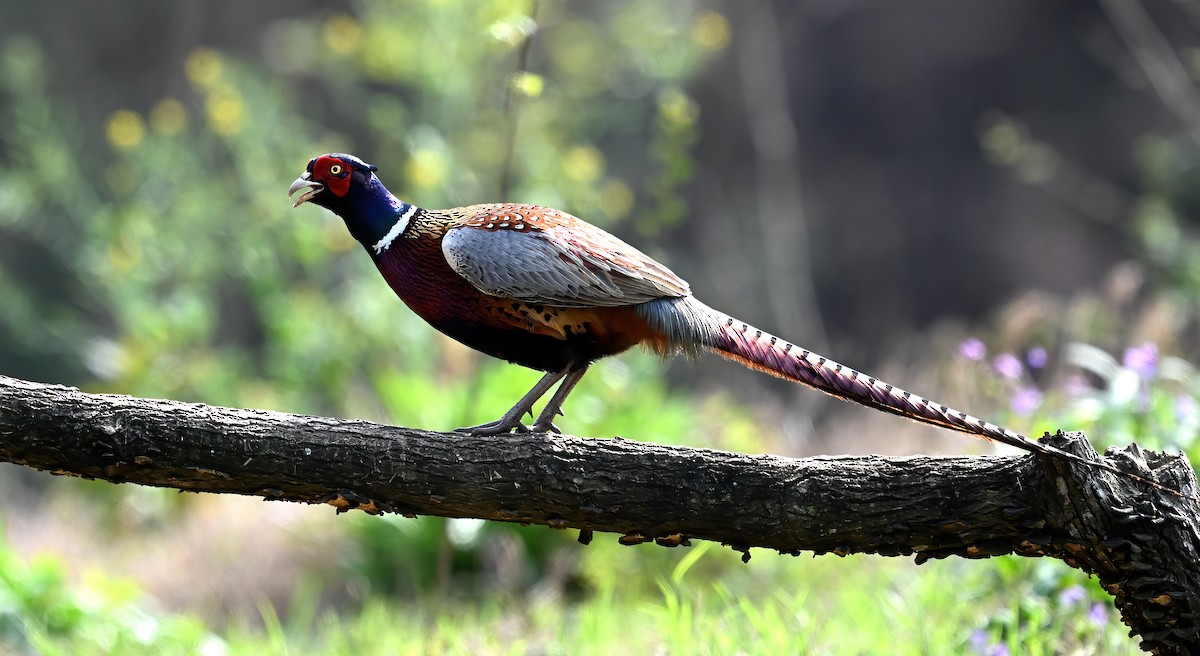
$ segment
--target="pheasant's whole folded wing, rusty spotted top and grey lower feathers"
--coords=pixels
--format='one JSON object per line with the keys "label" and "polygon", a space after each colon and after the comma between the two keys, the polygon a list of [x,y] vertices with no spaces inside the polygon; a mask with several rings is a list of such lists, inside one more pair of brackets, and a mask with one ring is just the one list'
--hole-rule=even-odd
{"label": "pheasant's whole folded wing, rusty spotted top and grey lower feathers", "polygon": [[476,205],[442,240],[450,267],[480,291],[558,307],[617,307],[690,294],[632,246],[565,212]]}

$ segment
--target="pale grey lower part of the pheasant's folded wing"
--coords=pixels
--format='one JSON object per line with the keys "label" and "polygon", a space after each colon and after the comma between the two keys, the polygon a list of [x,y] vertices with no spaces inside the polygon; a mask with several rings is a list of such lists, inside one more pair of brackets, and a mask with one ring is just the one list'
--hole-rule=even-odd
{"label": "pale grey lower part of the pheasant's folded wing", "polygon": [[[623,251],[616,253],[620,259],[653,261],[631,246]],[[442,239],[442,253],[450,267],[480,291],[524,302],[616,307],[688,294],[686,283],[658,263],[643,275],[632,265],[589,253],[551,231],[451,228]]]}

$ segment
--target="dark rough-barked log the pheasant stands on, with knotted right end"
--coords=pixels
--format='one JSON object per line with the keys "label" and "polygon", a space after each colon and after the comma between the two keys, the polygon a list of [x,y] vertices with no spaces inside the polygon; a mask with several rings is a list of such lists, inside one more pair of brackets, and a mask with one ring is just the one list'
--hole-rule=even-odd
{"label": "dark rough-barked log the pheasant stands on, with knotted right end", "polygon": [[[1055,446],[1098,458],[1081,434]],[[1187,494],[1183,456],[1109,462]],[[1159,654],[1200,649],[1196,505],[1031,456],[781,458],[516,434],[478,438],[365,421],[89,395],[0,377],[0,461],[112,482],[722,542],[744,553],[1048,555],[1100,578]]]}

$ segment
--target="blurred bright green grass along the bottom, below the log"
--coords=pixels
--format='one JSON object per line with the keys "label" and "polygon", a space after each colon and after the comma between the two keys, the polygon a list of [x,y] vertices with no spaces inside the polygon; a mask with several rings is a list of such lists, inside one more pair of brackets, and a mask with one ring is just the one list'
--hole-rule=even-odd
{"label": "blurred bright green grass along the bottom, below the log", "polygon": [[[1108,600],[1057,561],[1004,558],[914,566],[877,556],[748,565],[712,543],[577,547],[592,583],[577,600],[426,595],[216,631],[154,614],[128,584],[70,585],[50,560],[4,558],[0,651],[38,654],[1136,654]],[[30,566],[31,565],[31,566]],[[1068,590],[1069,592],[1061,592]],[[1102,604],[1097,607],[1097,604]]]}

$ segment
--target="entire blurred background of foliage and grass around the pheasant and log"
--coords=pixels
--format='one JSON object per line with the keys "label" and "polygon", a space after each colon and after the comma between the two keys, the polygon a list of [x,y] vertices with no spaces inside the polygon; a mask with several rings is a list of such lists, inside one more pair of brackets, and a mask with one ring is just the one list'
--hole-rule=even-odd
{"label": "entire blurred background of foliage and grass around the pheasant and log", "polygon": [[[1198,76],[1200,8],[1166,0],[4,2],[0,373],[493,419],[538,374],[436,335],[340,219],[292,209],[336,150],[418,205],[582,216],[714,307],[1024,432],[1190,451]],[[990,449],[716,359],[622,356],[566,410],[749,452]],[[743,566],[12,465],[0,486],[16,652],[1135,651],[1060,562]]]}

